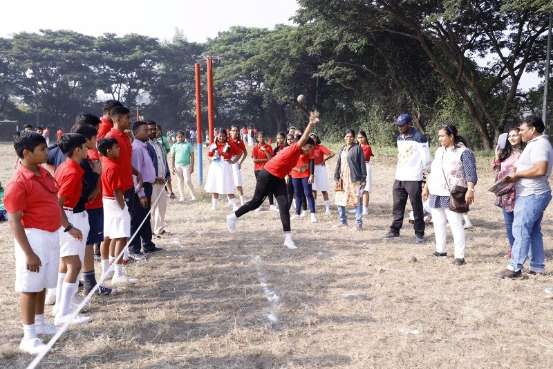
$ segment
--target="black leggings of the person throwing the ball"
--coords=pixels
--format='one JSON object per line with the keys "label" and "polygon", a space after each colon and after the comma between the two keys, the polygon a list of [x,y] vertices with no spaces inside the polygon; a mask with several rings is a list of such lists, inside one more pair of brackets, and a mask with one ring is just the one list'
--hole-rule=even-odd
{"label": "black leggings of the person throwing the ball", "polygon": [[270,174],[267,170],[265,170],[265,168],[261,169],[257,175],[254,197],[241,206],[241,208],[236,210],[234,215],[239,218],[245,213],[249,213],[256,208],[259,208],[270,192],[274,194],[274,197],[277,198],[277,203],[279,204],[282,229],[285,232],[290,232],[290,211],[287,206],[288,198],[286,196],[286,182],[284,179]]}

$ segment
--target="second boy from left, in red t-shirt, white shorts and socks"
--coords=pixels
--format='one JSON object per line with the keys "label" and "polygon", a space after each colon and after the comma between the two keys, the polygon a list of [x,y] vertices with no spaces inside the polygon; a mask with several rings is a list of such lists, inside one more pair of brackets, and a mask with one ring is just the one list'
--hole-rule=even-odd
{"label": "second boy from left, in red t-shirt, white shorts and socks", "polygon": [[73,213],[82,192],[84,170],[80,163],[88,154],[86,138],[77,133],[62,134],[59,138],[59,150],[62,150],[67,159],[55,172],[55,179],[59,184],[57,199],[62,208],[62,227],[58,231],[60,262],[54,324],[88,323],[92,321],[89,316],[71,314],[71,300],[79,287],[77,277],[82,268],[90,228],[86,211]]}

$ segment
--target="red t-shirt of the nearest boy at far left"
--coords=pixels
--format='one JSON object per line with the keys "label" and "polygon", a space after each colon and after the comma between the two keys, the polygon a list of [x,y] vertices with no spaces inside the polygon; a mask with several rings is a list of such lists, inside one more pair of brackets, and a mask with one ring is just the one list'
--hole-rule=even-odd
{"label": "red t-shirt of the nearest boy at far left", "polygon": [[38,167],[37,175],[21,163],[6,185],[4,207],[10,213],[22,211],[23,228],[55,232],[62,226],[62,211],[57,201],[57,183],[48,170]]}

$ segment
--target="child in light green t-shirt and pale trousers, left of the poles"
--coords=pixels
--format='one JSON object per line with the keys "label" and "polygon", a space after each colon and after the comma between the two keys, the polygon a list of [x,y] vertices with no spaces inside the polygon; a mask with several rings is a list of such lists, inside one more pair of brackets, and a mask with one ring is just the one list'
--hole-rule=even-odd
{"label": "child in light green t-shirt and pale trousers, left of the poles", "polygon": [[178,201],[185,201],[185,183],[190,192],[191,201],[196,200],[191,179],[191,174],[194,173],[194,146],[185,141],[185,132],[177,132],[177,142],[171,147],[171,153],[173,154],[171,168],[173,168],[173,174],[177,176],[178,192],[180,192]]}

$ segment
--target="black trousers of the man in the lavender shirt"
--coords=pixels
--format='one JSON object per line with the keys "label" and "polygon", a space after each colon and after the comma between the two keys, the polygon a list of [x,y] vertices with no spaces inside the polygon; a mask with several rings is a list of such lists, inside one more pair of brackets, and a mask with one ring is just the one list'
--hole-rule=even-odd
{"label": "black trousers of the man in the lavender shirt", "polygon": [[[133,213],[131,213],[131,236],[139,228],[140,231],[138,231],[136,236],[129,244],[129,252],[131,253],[140,252],[141,243],[144,245],[144,249],[152,249],[156,246],[156,244],[151,242],[151,224],[150,215],[148,214],[151,206],[151,183],[144,183],[144,195],[146,195],[146,201],[148,204],[146,208],[142,208],[142,206],[140,205],[140,197],[138,197],[138,195],[136,194],[134,195]],[[142,223],[142,220],[144,219],[144,217],[146,217],[146,215],[148,215],[148,218],[146,219],[144,224],[142,224],[142,227],[140,227],[140,223]]]}

